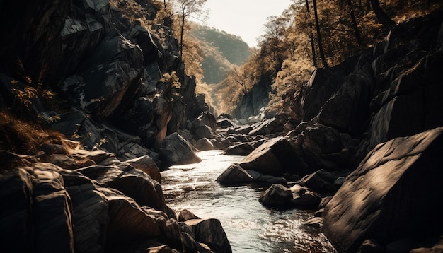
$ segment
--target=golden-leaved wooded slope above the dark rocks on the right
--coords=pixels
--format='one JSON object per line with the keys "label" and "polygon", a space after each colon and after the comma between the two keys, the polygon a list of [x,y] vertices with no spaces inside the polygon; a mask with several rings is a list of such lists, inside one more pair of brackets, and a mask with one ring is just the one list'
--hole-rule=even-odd
{"label": "golden-leaved wooded slope above the dark rocks on the right", "polygon": [[[260,108],[242,99],[265,81],[267,88],[260,90],[271,91],[260,96],[270,101],[267,111],[289,111],[316,67],[335,66],[379,42],[393,24],[438,8],[442,8],[438,0],[294,0],[281,16],[268,18],[259,48],[222,81],[215,102],[224,112],[251,116],[241,111],[257,112]],[[244,110],[238,105],[252,108]]]}

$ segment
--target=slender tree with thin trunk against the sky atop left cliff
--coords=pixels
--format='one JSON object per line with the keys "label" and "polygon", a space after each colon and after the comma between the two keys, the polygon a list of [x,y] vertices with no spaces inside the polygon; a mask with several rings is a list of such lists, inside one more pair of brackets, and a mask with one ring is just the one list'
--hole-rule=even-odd
{"label": "slender tree with thin trunk against the sky atop left cliff", "polygon": [[183,35],[185,32],[186,19],[192,14],[202,13],[202,6],[207,0],[175,0],[176,8],[180,13],[180,57],[183,57]]}

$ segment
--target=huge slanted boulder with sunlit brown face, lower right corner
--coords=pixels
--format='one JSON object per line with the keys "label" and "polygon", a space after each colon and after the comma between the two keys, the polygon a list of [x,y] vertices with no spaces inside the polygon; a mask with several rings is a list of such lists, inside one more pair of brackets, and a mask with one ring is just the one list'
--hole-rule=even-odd
{"label": "huge slanted boulder with sunlit brown face, lower right corner", "polygon": [[441,235],[442,131],[399,137],[367,154],[323,211],[323,233],[335,249]]}

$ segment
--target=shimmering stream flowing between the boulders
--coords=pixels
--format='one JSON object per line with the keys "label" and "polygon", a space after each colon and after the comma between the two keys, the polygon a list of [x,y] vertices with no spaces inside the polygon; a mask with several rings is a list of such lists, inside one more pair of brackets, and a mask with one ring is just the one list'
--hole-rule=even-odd
{"label": "shimmering stream flowing between the boulders", "polygon": [[218,184],[217,177],[243,159],[221,153],[202,151],[202,162],[161,172],[169,207],[219,219],[233,252],[335,252],[318,228],[302,225],[313,218],[311,211],[265,208],[258,198],[266,187]]}

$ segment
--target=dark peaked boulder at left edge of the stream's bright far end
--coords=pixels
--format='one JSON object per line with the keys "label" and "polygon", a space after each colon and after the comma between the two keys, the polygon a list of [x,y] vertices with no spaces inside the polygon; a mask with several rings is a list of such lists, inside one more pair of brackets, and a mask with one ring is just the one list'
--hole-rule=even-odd
{"label": "dark peaked boulder at left edge of the stream's bright far end", "polygon": [[159,149],[160,159],[169,165],[199,163],[202,161],[192,150],[190,143],[178,133],[173,133],[163,140]]}

